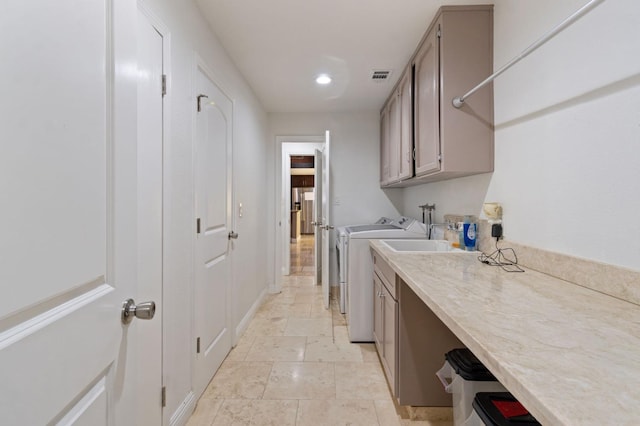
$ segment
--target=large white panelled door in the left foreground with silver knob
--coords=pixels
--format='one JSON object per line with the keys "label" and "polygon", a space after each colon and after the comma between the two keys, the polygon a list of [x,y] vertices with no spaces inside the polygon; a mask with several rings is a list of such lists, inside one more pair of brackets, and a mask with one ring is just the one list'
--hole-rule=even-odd
{"label": "large white panelled door in the left foreground with silver knob", "polygon": [[2,424],[134,423],[135,45],[110,48],[129,3],[3,1]]}

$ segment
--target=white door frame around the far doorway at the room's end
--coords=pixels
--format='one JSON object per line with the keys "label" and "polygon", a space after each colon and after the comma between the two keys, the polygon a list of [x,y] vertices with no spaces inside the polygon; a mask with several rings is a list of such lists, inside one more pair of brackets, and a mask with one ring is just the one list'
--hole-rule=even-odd
{"label": "white door frame around the far doorway at the room's end", "polygon": [[[282,277],[289,275],[289,240],[291,235],[291,155],[314,155],[316,149],[324,147],[324,135],[318,136],[276,136],[276,143],[280,147],[281,155],[276,155],[276,170],[280,182],[280,208],[278,209],[275,247],[275,286],[271,293],[278,293],[282,287]],[[317,198],[317,197],[316,197]],[[278,229],[279,228],[279,229]]]}

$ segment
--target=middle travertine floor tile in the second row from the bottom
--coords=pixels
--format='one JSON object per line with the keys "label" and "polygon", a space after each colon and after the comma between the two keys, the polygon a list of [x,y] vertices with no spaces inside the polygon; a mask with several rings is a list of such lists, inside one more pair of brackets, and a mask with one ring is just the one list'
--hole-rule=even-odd
{"label": "middle travertine floor tile in the second row from the bottom", "polygon": [[323,362],[276,362],[273,364],[266,399],[335,399],[333,364]]}

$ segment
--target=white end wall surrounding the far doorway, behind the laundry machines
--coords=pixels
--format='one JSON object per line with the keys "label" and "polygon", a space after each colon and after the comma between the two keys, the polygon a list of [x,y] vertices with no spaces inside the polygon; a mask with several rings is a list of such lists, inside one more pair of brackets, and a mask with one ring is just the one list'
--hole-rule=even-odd
{"label": "white end wall surrounding the far doorway, behind the laundry machines", "polygon": [[[324,135],[331,132],[331,224],[342,226],[353,223],[371,223],[380,216],[398,216],[400,190],[383,191],[379,185],[379,112],[344,113],[271,113],[269,114],[270,141],[274,144],[269,163],[269,181],[274,186],[269,194],[269,223],[271,231],[269,247],[275,247],[275,236],[279,235],[276,203],[280,199],[280,147],[276,136]],[[390,195],[387,195],[390,194]],[[336,205],[339,201],[339,205]],[[330,282],[337,284],[337,269],[331,242]],[[275,264],[274,253],[269,253],[269,262]],[[271,267],[271,273],[280,273]],[[274,280],[275,280],[275,275]]]}

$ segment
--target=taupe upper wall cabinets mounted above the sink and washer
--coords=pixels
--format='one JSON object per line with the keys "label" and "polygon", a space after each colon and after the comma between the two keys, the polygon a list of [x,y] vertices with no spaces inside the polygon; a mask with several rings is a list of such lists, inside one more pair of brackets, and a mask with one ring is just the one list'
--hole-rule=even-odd
{"label": "taupe upper wall cabinets mounted above the sink and washer", "polygon": [[493,85],[466,99],[460,109],[452,104],[492,72],[493,6],[440,8],[385,104],[399,97],[401,114],[400,130],[386,135],[389,160],[398,153],[398,174],[382,186],[493,171]]}

